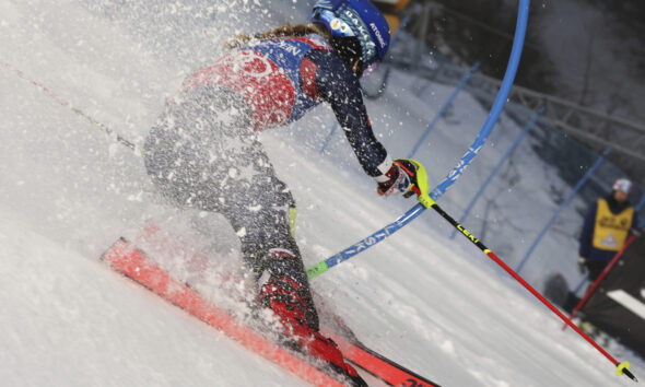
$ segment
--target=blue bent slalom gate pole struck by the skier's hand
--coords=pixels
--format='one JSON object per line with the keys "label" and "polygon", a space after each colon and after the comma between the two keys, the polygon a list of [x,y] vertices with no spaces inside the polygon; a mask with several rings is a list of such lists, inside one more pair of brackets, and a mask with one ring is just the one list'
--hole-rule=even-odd
{"label": "blue bent slalom gate pole struck by the skier's hand", "polygon": [[365,249],[376,245],[377,243],[382,242],[386,237],[390,236],[391,234],[396,233],[397,231],[404,227],[407,224],[412,222],[417,216],[419,216],[425,209],[426,206],[423,204],[423,201],[427,199],[437,200],[446,190],[457,181],[457,178],[461,176],[464,171],[470,162],[477,156],[481,148],[484,145],[484,142],[500,114],[502,114],[502,109],[506,104],[506,98],[511,93],[511,87],[513,86],[513,81],[515,80],[515,74],[517,73],[517,67],[519,66],[519,58],[521,57],[521,49],[524,46],[524,38],[526,35],[526,26],[528,23],[528,11],[529,11],[529,0],[519,0],[518,11],[517,11],[517,25],[515,27],[515,38],[513,40],[513,48],[511,49],[511,58],[508,60],[508,66],[506,67],[506,72],[504,74],[504,80],[502,81],[502,85],[500,86],[500,91],[497,92],[497,96],[493,103],[493,107],[489,113],[489,116],[481,128],[478,137],[474,139],[473,143],[470,145],[466,154],[461,156],[457,165],[448,173],[446,178],[429,195],[420,195],[419,196],[419,203],[412,207],[408,212],[403,215],[399,216],[394,222],[389,223],[385,227],[378,230],[377,232],[373,233],[372,235],[361,239],[360,242],[355,243],[354,245],[345,248],[344,250],[327,258],[320,260],[307,268],[307,275],[309,279],[320,275],[324,272],[327,272],[330,268],[337,266],[340,262],[343,262],[359,253],[364,251]]}

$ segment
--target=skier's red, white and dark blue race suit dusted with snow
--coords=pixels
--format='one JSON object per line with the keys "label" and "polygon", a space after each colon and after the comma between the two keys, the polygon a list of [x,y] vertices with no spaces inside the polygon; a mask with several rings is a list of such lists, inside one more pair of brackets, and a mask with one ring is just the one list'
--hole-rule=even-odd
{"label": "skier's red, white and dark blue race suit dusted with snow", "polygon": [[[364,171],[383,178],[391,160],[374,137],[359,79],[317,35],[257,40],[189,77],[146,139],[148,172],[175,203],[226,216],[256,272],[290,271],[308,289],[290,231],[295,204],[257,131],[295,121],[322,102]],[[265,259],[271,248],[298,259]],[[317,327],[315,310],[309,318]]]}

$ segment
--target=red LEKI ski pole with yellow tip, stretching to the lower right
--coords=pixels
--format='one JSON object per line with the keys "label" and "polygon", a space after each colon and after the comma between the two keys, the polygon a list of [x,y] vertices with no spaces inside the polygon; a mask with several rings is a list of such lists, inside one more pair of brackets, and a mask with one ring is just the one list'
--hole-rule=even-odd
{"label": "red LEKI ski pole with yellow tip, stretching to the lower right", "polygon": [[[420,191],[417,195],[421,194]],[[630,372],[630,362],[622,362],[619,363],[613,356],[611,356],[602,347],[600,347],[594,339],[583,332],[573,321],[566,316],[562,314],[553,304],[551,304],[544,296],[542,296],[538,291],[536,291],[528,282],[526,282],[518,273],[513,271],[500,257],[497,257],[491,249],[489,249],[484,244],[479,241],[471,232],[466,230],[461,224],[459,224],[455,219],[453,219],[446,211],[444,211],[437,203],[431,198],[430,201],[426,200],[424,206],[430,204],[430,208],[435,210],[442,218],[444,218],[448,223],[450,223],[455,228],[457,228],[468,241],[470,241],[474,246],[477,246],[480,250],[482,250],[489,258],[491,258],[495,263],[501,266],[511,277],[513,277],[517,282],[521,283],[521,285],[528,290],[533,296],[536,296],[542,304],[544,304],[551,312],[553,312],[558,317],[560,317],[566,325],[572,327],[579,336],[582,336],[585,340],[587,340],[598,352],[602,353],[605,357],[607,357],[613,365],[617,366],[615,374],[618,376],[626,375],[634,382],[638,382],[638,379]]]}

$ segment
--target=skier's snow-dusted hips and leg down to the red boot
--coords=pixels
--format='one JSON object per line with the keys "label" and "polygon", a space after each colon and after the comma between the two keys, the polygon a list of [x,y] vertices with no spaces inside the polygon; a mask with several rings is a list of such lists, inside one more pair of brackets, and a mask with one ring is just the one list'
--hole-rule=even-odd
{"label": "skier's snow-dusted hips and leg down to the red boot", "polygon": [[291,230],[295,203],[253,131],[245,102],[221,87],[187,93],[180,104],[168,106],[144,149],[149,174],[164,196],[223,214],[239,236],[256,280],[295,281],[306,304],[306,322],[317,330],[318,316]]}

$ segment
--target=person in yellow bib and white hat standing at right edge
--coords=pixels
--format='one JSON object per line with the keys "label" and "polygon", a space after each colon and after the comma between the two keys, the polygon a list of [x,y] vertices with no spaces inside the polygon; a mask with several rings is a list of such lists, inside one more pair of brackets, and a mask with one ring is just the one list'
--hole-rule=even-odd
{"label": "person in yellow bib and white hat standing at right edge", "polygon": [[632,181],[615,180],[611,194],[598,199],[585,216],[578,266],[580,272],[589,272],[591,281],[600,275],[638,224],[637,213],[629,200],[632,190]]}

